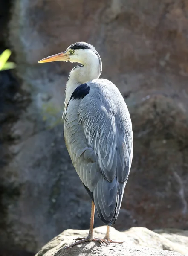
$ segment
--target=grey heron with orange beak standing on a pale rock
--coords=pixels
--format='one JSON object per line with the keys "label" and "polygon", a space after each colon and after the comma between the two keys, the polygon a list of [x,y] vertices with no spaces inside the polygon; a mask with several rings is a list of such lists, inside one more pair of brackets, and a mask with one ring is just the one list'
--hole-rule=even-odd
{"label": "grey heron with orange beak standing on a pale rock", "polygon": [[[118,53],[117,53],[118,54]],[[109,227],[115,224],[133,157],[133,131],[130,114],[118,88],[99,79],[101,58],[95,47],[85,42],[70,45],[40,60],[79,63],[69,74],[64,102],[64,140],[73,166],[92,199],[90,230],[72,247],[85,241],[116,243]],[[93,237],[95,208],[107,224],[103,239]],[[117,242],[121,243],[121,242]]]}

